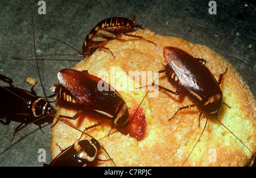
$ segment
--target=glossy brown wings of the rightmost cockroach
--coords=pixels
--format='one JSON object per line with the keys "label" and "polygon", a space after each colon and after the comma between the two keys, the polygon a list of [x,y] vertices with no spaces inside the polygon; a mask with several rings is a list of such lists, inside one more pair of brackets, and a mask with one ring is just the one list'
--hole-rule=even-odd
{"label": "glossy brown wings of the rightmost cockroach", "polygon": [[174,47],[164,47],[164,58],[179,79],[179,85],[197,100],[207,100],[209,94],[221,92],[218,82],[202,60]]}

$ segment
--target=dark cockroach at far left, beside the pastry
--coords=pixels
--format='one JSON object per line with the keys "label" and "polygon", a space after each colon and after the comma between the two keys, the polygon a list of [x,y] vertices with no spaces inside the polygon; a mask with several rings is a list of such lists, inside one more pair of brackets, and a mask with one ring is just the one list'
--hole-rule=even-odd
{"label": "dark cockroach at far left, beside the pastry", "polygon": [[[34,123],[39,126],[39,129],[43,132],[41,125],[43,123],[51,123],[53,117],[48,116],[47,113],[55,114],[51,104],[46,98],[36,95],[34,86],[31,91],[14,87],[13,80],[11,78],[0,74],[0,80],[9,83],[9,86],[0,86],[1,93],[1,107],[0,107],[0,122],[4,125],[9,125],[11,121],[20,122],[20,125],[16,127],[15,134],[27,126],[29,123]],[[22,98],[24,100],[22,100]],[[42,119],[38,119],[42,118]]]}

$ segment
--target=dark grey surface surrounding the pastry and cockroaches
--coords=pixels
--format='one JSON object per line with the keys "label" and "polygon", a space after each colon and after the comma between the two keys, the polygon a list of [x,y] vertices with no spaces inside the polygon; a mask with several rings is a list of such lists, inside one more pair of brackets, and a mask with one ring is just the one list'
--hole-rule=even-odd
{"label": "dark grey surface surrounding the pastry and cockroaches", "polygon": [[[46,15],[38,14],[39,1],[1,1],[0,4],[0,73],[13,79],[14,85],[30,90],[27,77],[38,78],[35,60],[15,60],[13,57],[33,56],[31,11],[35,22],[38,55],[77,54],[62,43],[46,36],[63,40],[81,51],[86,34],[100,20],[112,16],[133,18],[155,34],[185,38],[189,42],[206,45],[223,56],[241,74],[256,95],[255,19],[256,6],[250,1],[216,1],[217,14],[208,13],[209,1],[45,1]],[[74,56],[44,56],[44,59],[72,59]],[[34,59],[34,57],[28,57]],[[76,61],[39,61],[42,81],[47,95],[52,84],[57,84],[57,72],[72,68]],[[0,82],[1,85],[5,83]],[[40,84],[36,92],[43,96]],[[0,98],[2,100],[2,98]],[[0,125],[0,142],[13,135],[18,123]],[[14,142],[0,145],[1,166],[42,166],[38,150],[49,151],[50,125],[30,125],[16,135]]]}

